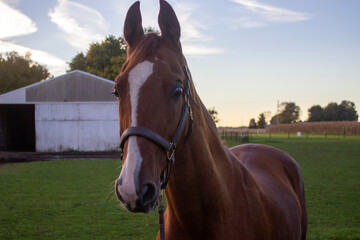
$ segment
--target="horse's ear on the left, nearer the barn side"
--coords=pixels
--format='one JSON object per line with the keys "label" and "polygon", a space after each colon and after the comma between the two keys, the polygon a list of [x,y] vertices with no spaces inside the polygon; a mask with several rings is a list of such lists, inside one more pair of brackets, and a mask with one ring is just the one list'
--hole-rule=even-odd
{"label": "horse's ear on the left, nearer the barn side", "polygon": [[144,37],[144,30],[141,25],[140,2],[135,2],[126,14],[124,24],[124,37],[129,47],[135,47]]}

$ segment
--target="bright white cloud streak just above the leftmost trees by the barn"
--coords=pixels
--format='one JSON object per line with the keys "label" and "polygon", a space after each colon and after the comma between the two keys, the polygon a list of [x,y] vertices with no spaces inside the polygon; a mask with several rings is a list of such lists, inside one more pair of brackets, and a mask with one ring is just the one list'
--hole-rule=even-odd
{"label": "bright white cloud streak just above the leftmost trees by the barn", "polygon": [[55,76],[63,74],[66,70],[66,62],[56,57],[55,55],[41,51],[30,49],[21,45],[0,41],[0,52],[11,52],[16,51],[20,55],[25,55],[26,52],[31,52],[31,59],[38,62],[41,65],[48,67],[51,74]]}

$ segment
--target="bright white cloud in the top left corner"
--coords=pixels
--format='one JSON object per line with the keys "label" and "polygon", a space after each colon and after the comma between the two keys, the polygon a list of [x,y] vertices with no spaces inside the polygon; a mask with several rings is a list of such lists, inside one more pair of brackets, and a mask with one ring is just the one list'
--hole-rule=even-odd
{"label": "bright white cloud in the top left corner", "polygon": [[36,24],[20,11],[0,1],[0,39],[23,36],[37,31]]}

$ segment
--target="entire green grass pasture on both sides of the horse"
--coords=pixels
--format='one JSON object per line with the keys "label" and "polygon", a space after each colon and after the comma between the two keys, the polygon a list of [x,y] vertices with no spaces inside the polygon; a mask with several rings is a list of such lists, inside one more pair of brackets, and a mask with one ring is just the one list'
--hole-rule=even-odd
{"label": "entire green grass pasture on both sides of the horse", "polygon": [[[259,135],[299,163],[308,239],[360,239],[360,137]],[[227,141],[229,146],[239,144]],[[155,239],[156,211],[131,214],[113,192],[120,161],[0,165],[0,239]]]}

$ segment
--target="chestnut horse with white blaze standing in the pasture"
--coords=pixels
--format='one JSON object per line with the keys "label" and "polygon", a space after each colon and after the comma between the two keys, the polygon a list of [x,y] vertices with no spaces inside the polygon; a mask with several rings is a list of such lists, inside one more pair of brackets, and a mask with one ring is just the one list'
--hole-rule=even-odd
{"label": "chestnut horse with white blaze standing in the pasture", "polygon": [[160,0],[161,36],[144,34],[141,21],[136,2],[114,87],[123,154],[118,199],[130,212],[147,213],[167,185],[166,239],[306,239],[294,159],[265,145],[226,148],[196,93],[172,7]]}

